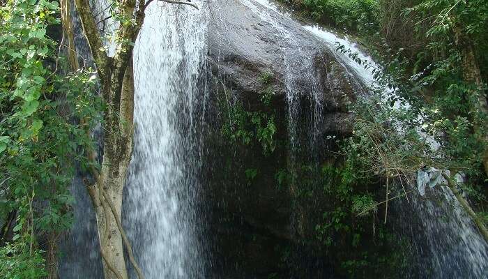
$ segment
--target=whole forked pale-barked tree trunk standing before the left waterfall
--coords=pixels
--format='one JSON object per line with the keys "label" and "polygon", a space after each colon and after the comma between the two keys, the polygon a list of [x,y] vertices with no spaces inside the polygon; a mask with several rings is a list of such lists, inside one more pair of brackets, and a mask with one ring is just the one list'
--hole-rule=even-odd
{"label": "whole forked pale-barked tree trunk standing before the left waterfall", "polygon": [[[136,1],[138,9],[135,11]],[[87,190],[96,212],[105,279],[127,278],[124,248],[137,277],[144,279],[121,225],[121,208],[125,176],[132,156],[134,128],[133,44],[124,42],[136,40],[144,21],[144,8],[147,3],[144,0],[121,1],[119,12],[128,19],[132,17],[134,24],[121,24],[119,30],[115,32],[121,43],[117,43],[114,56],[109,57],[105,52],[89,2],[89,0],[75,0],[75,6],[96,63],[106,107],[103,113],[102,167],[99,170],[94,165],[91,166],[91,173],[96,183],[95,185],[86,183]],[[96,163],[95,151],[91,150],[90,146],[87,146],[86,151],[89,160]]]}

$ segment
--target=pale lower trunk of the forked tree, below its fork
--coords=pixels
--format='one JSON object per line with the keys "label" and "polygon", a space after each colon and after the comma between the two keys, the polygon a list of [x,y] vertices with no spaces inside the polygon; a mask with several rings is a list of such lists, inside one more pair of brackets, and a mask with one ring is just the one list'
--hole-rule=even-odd
{"label": "pale lower trunk of the forked tree, below its fork", "polygon": [[[112,74],[111,81],[106,83],[110,89],[105,89],[105,92],[110,90],[111,93],[107,96],[120,96],[120,99],[106,99],[104,151],[102,169],[97,181],[99,204],[96,206],[96,217],[105,279],[126,279],[128,274],[123,247],[124,242],[126,246],[129,244],[126,238],[123,239],[125,234],[120,220],[123,186],[132,156],[134,110],[132,63],[125,68],[121,82],[117,82],[119,79],[114,75],[117,75],[116,71]],[[130,250],[129,256],[132,257],[130,247],[128,250]]]}

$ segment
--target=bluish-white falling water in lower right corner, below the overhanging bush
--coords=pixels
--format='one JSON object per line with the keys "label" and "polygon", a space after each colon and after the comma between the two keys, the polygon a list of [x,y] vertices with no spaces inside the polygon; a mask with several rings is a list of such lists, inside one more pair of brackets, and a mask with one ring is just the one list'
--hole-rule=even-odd
{"label": "bluish-white falling water in lower right corner, below the overhanging bush", "polygon": [[413,239],[418,278],[488,278],[488,245],[473,220],[448,187],[426,190],[395,205]]}

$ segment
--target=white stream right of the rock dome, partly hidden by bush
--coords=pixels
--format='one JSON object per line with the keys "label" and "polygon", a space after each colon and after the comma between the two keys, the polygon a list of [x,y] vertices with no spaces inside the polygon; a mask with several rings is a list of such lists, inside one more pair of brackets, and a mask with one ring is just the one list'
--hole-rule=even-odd
{"label": "white stream right of the rock dome, partly hidden by bush", "polygon": [[[347,38],[317,26],[305,26],[305,29],[321,38],[329,47],[344,45],[346,50],[358,54],[362,61],[374,65],[371,56],[360,50]],[[371,70],[360,66],[345,54],[336,54],[337,59],[351,69],[360,80],[372,89],[381,86],[376,82]],[[391,91],[386,95],[392,94]],[[406,107],[405,107],[406,106]],[[402,108],[408,108],[402,105]],[[395,108],[399,108],[399,102]],[[427,138],[431,146],[439,146]],[[419,278],[488,278],[488,245],[475,228],[473,220],[462,209],[452,191],[445,186],[431,190],[427,197],[413,193],[410,202],[400,199],[396,205],[406,232],[411,232],[418,257]],[[409,222],[404,222],[408,220]],[[417,278],[412,276],[413,278]]]}

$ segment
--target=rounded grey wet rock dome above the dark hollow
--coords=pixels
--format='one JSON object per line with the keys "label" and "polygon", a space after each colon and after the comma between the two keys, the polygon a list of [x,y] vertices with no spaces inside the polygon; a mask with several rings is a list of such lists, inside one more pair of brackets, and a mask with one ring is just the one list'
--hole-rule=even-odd
{"label": "rounded grey wet rock dome above the dark hollow", "polygon": [[[263,90],[259,79],[272,76],[275,98],[319,98],[324,112],[346,112],[354,86],[330,50],[303,27],[251,1],[214,1],[208,29],[208,61],[214,75],[243,100]],[[344,118],[344,115],[340,115]],[[347,132],[330,119],[336,131]]]}

